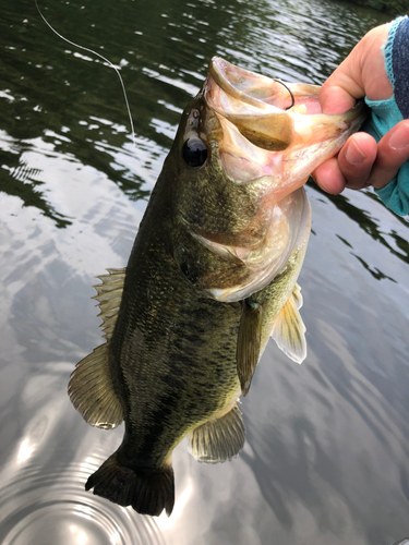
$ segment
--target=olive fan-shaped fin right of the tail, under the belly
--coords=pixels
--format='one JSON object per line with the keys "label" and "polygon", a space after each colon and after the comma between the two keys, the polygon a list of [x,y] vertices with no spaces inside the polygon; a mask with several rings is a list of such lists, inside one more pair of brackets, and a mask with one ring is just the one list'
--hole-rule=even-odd
{"label": "olive fan-shaped fin right of the tail, under the belly", "polygon": [[190,451],[200,462],[216,463],[231,460],[243,449],[245,428],[241,411],[234,401],[221,416],[193,429]]}

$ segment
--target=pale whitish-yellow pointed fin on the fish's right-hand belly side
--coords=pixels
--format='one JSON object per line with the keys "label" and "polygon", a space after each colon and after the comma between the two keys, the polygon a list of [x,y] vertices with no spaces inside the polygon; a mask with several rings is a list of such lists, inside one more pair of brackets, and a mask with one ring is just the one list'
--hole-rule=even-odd
{"label": "pale whitish-yellow pointed fin on the fish's right-hand belly side", "polygon": [[301,304],[300,287],[296,284],[272,331],[278,348],[297,363],[302,363],[306,356],[305,326],[298,311]]}

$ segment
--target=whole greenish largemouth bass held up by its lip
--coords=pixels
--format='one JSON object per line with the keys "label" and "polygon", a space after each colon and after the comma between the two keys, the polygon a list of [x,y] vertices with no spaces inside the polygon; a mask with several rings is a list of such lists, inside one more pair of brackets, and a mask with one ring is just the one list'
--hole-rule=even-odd
{"label": "whole greenish largemouth bass held up by its lip", "polygon": [[74,408],[124,422],[87,491],[141,514],[170,516],[172,451],[201,462],[243,449],[239,407],[270,337],[306,356],[297,283],[311,230],[303,184],[365,118],[324,114],[320,87],[215,57],[187,106],[123,269],[95,286],[105,343],[76,364]]}

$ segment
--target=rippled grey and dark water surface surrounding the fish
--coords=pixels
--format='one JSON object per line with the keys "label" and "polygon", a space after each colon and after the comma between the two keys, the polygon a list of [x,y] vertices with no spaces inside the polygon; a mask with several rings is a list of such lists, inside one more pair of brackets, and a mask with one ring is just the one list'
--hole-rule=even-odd
{"label": "rippled grey and dark water surface surrounding the fish", "polygon": [[230,463],[175,452],[170,519],[84,491],[122,428],[71,407],[74,364],[100,343],[95,276],[123,267],[180,113],[213,55],[322,83],[387,17],[326,0],[53,1],[2,9],[0,543],[389,545],[409,535],[409,225],[370,192],[306,187],[300,277],[309,355],[267,347]]}

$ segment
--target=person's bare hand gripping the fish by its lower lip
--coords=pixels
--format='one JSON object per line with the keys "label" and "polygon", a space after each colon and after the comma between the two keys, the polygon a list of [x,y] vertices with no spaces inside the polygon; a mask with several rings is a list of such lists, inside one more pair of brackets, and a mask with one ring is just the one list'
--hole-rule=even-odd
{"label": "person's bare hand gripping the fish by its lower lip", "polygon": [[[393,87],[381,50],[386,44],[388,26],[370,31],[324,83],[320,92],[324,113],[342,113],[364,96],[371,100],[390,98]],[[337,157],[315,170],[313,179],[332,194],[341,193],[345,187],[359,190],[373,185],[381,189],[408,159],[409,120],[404,120],[378,143],[368,133],[351,135]]]}

